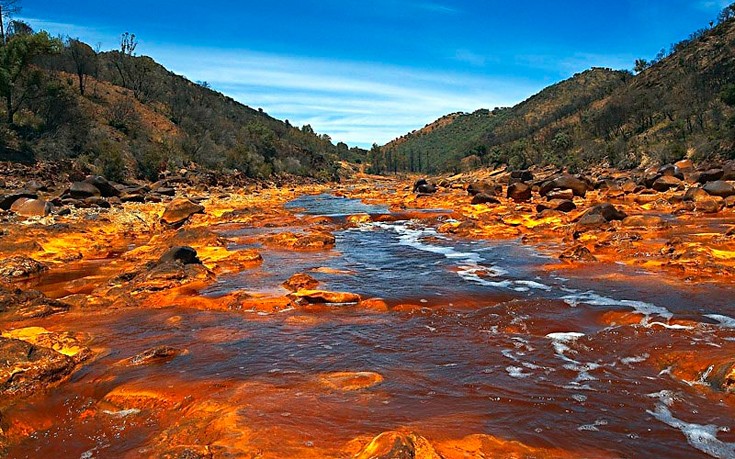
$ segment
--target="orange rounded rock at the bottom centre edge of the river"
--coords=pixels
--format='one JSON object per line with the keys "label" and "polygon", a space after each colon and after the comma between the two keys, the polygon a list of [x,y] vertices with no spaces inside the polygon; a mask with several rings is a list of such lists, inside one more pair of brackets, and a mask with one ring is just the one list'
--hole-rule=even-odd
{"label": "orange rounded rock at the bottom centre edge of the river", "polygon": [[413,433],[384,432],[354,459],[443,459],[424,437]]}

